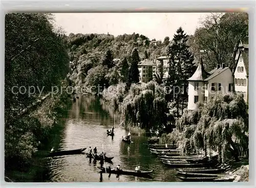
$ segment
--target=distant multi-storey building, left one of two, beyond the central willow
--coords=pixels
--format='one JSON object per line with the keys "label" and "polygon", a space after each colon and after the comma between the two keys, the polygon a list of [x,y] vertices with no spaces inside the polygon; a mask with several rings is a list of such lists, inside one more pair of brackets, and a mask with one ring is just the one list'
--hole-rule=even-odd
{"label": "distant multi-storey building, left one of two, beyond the central willow", "polygon": [[140,82],[147,83],[153,79],[153,61],[143,60],[138,65]]}

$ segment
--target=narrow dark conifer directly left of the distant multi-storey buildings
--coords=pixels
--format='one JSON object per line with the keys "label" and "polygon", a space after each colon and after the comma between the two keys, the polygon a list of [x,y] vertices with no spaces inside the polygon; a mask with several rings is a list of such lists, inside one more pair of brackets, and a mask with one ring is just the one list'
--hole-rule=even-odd
{"label": "narrow dark conifer directly left of the distant multi-storey buildings", "polygon": [[131,66],[128,71],[128,83],[131,84],[136,84],[139,82],[139,69],[138,69],[138,64],[139,64],[140,58],[139,58],[139,52],[138,52],[138,47],[135,47],[132,51],[132,56],[131,56]]}

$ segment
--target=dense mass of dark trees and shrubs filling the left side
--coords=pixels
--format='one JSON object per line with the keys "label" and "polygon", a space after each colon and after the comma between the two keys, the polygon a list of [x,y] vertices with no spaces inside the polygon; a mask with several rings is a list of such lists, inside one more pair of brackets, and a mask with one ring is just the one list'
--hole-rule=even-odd
{"label": "dense mass of dark trees and shrubs filling the left side", "polygon": [[[38,141],[44,142],[56,123],[56,107],[63,108],[64,95],[42,103],[37,100],[51,92],[52,86],[62,85],[69,56],[51,14],[11,13],[5,18],[5,163],[9,168],[12,159],[15,165],[27,162]],[[22,92],[17,89],[14,94],[13,86],[23,87]],[[31,95],[29,87],[35,88]]]}

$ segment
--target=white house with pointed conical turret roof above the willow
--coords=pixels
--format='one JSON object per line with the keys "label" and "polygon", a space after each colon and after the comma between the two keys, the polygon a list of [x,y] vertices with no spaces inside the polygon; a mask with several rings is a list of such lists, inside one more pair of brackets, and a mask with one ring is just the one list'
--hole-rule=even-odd
{"label": "white house with pointed conical turret roof above the willow", "polygon": [[206,72],[202,57],[196,72],[188,79],[187,110],[195,110],[197,102],[207,102],[217,93],[230,94],[233,92],[233,74],[224,64]]}

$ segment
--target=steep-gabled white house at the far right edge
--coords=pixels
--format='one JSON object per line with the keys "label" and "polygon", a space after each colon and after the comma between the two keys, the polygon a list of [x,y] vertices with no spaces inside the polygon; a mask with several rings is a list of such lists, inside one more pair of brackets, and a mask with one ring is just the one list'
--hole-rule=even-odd
{"label": "steep-gabled white house at the far right edge", "polygon": [[242,92],[244,100],[248,103],[248,79],[249,79],[249,48],[248,44],[240,42],[234,67],[234,91]]}

